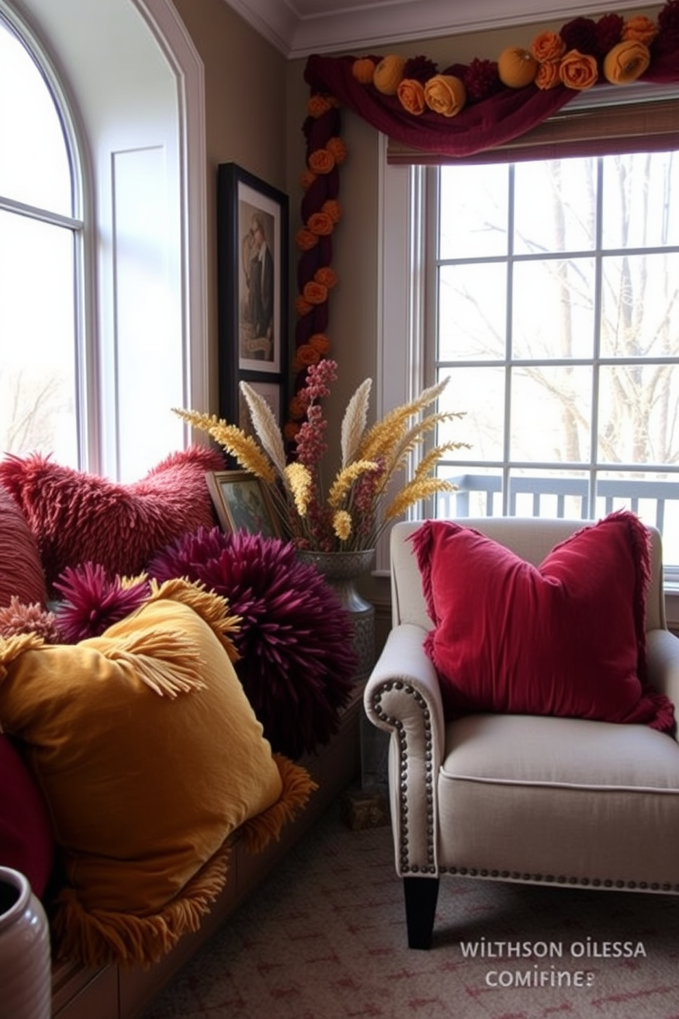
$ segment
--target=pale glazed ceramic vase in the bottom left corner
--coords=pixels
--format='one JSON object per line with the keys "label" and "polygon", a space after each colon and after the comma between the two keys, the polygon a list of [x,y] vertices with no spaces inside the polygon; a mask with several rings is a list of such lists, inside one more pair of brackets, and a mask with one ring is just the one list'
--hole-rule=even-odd
{"label": "pale glazed ceramic vase in the bottom left corner", "polygon": [[23,874],[0,867],[0,1019],[50,1019],[50,933]]}

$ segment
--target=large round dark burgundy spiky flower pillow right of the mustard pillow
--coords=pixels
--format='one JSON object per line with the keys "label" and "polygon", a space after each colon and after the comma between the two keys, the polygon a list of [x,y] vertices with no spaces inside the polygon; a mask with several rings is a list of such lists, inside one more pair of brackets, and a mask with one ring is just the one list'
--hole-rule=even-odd
{"label": "large round dark burgundy spiky flower pillow right of the mustard pillow", "polygon": [[241,618],[235,669],[274,751],[294,759],[329,741],[352,689],[352,627],[293,545],[201,528],[168,545],[148,570],[159,582],[201,581]]}

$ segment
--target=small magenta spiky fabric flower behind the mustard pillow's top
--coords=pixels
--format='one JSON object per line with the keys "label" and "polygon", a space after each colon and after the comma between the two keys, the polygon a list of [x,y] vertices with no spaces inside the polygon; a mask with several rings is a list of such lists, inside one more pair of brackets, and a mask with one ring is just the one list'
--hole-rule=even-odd
{"label": "small magenta spiky fabric flower behind the mustard pillow's top", "polygon": [[67,567],[54,587],[63,598],[54,614],[64,644],[99,637],[149,596],[147,581],[124,587],[119,577],[112,580],[98,562]]}

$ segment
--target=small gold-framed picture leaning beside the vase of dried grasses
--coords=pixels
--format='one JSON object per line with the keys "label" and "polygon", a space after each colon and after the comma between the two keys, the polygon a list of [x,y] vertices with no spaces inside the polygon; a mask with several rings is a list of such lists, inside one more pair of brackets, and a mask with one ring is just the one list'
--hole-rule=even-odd
{"label": "small gold-framed picture leaning beside the vase of dried grasses", "polygon": [[209,471],[206,477],[217,517],[225,531],[280,537],[271,496],[256,475],[249,471]]}

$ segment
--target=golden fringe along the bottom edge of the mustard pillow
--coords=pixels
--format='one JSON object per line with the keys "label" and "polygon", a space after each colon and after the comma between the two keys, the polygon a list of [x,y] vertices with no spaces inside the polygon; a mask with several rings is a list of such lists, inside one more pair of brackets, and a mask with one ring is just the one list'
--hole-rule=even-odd
{"label": "golden fringe along the bottom edge of the mustard pillow", "polygon": [[199,929],[226,883],[229,853],[230,846],[222,846],[177,898],[152,916],[88,911],[73,889],[64,889],[51,921],[55,957],[92,967],[119,963],[149,968],[183,934]]}

